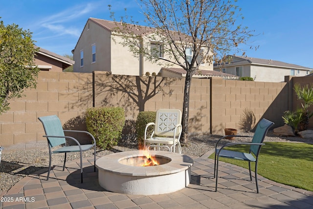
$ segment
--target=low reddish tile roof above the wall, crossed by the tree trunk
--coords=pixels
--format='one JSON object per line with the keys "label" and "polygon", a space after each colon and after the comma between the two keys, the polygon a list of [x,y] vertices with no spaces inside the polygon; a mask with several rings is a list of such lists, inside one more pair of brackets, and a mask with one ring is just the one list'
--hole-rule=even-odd
{"label": "low reddish tile roof above the wall, crossed by the tree trunk", "polygon": [[[161,68],[161,70],[166,70],[178,75],[186,74],[186,70],[182,68]],[[224,73],[221,71],[215,71],[215,70],[198,70],[198,73],[195,74],[197,77],[232,77],[232,78],[238,78],[236,75]]]}

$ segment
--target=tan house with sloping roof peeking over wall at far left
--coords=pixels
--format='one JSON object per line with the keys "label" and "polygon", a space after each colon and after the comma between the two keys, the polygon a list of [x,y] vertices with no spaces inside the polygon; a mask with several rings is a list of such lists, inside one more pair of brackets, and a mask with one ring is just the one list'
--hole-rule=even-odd
{"label": "tan house with sloping roof peeking over wall at far left", "polygon": [[62,72],[67,67],[74,65],[74,61],[39,47],[35,56],[35,64],[40,70]]}

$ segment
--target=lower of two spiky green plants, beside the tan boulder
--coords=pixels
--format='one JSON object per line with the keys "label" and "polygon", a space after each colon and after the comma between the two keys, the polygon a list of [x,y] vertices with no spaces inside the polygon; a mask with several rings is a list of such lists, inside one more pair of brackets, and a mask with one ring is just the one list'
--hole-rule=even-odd
{"label": "lower of two spiky green plants, beside the tan boulder", "polygon": [[284,123],[290,125],[294,129],[295,134],[297,134],[299,132],[298,126],[306,118],[305,115],[305,110],[298,107],[295,111],[285,111],[282,118]]}

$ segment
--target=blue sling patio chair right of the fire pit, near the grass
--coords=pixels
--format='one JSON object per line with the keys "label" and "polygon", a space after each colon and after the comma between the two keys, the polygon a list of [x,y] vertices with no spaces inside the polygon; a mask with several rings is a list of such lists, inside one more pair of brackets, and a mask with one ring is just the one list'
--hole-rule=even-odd
{"label": "blue sling patio chair right of the fire pit, near the grass", "polygon": [[[221,148],[218,148],[219,142],[226,137],[248,137],[248,136],[228,135],[228,136],[222,137],[221,139],[217,141],[215,145],[215,161],[214,161],[214,178],[215,178],[215,173],[216,173],[215,191],[217,191],[219,158],[221,157],[221,158],[230,158],[230,159],[235,159],[235,160],[247,161],[249,163],[250,181],[252,181],[251,162],[254,162],[255,163],[255,183],[256,183],[257,192],[259,193],[258,177],[257,177],[258,157],[261,151],[261,146],[264,145],[263,141],[266,137],[266,134],[268,133],[268,129],[273,124],[274,124],[273,122],[263,118],[258,123],[251,142],[230,142],[230,143],[226,143]],[[224,149],[225,147],[235,146],[239,144],[249,145],[250,146],[249,153],[230,151],[230,150]]]}

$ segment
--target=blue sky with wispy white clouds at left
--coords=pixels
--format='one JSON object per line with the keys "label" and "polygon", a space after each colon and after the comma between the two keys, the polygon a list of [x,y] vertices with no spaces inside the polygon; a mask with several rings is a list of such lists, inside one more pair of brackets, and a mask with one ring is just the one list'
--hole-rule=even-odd
{"label": "blue sky with wispy white clouds at left", "polygon": [[[110,19],[124,8],[140,23],[136,0],[0,0],[4,24],[16,23],[33,32],[36,45],[54,53],[71,54],[88,18]],[[313,68],[312,0],[238,0],[245,17],[242,24],[255,30],[248,57],[272,59]],[[238,54],[241,55],[241,54]]]}

